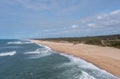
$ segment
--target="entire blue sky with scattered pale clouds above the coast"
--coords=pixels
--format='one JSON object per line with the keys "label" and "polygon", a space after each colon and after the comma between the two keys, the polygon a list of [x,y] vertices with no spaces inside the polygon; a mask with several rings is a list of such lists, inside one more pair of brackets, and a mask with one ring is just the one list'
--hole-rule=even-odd
{"label": "entire blue sky with scattered pale clouds above the coast", "polygon": [[120,0],[0,0],[0,39],[120,34]]}

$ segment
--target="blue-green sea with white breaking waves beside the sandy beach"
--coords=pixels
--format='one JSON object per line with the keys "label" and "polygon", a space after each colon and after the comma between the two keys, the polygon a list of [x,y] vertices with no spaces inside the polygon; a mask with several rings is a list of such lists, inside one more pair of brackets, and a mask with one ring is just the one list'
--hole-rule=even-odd
{"label": "blue-green sea with white breaking waves beside the sandy beach", "polygon": [[0,79],[118,79],[91,63],[28,40],[0,40]]}

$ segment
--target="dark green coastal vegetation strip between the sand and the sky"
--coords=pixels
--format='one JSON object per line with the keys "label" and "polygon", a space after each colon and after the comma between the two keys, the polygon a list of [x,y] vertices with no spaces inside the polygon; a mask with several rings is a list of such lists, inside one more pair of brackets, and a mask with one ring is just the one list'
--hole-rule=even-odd
{"label": "dark green coastal vegetation strip between the sand and the sky", "polygon": [[45,38],[39,40],[55,41],[55,42],[72,42],[73,44],[83,43],[83,44],[92,44],[92,45],[120,48],[120,34],[92,36],[92,37]]}

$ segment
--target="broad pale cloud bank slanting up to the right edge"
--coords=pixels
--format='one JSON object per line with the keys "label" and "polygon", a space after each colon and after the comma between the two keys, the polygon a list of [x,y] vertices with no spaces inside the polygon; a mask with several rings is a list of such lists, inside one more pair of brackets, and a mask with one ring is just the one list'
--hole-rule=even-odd
{"label": "broad pale cloud bank slanting up to the right edge", "polygon": [[[71,34],[71,33],[72,34],[73,33],[78,33],[78,34],[93,33],[94,34],[95,32],[96,33],[102,32],[103,30],[109,31],[110,33],[112,32],[112,29],[119,28],[120,14],[118,10],[115,10],[109,13],[98,14],[95,16],[78,19],[68,23],[58,23],[58,24],[55,24],[55,27],[56,26],[59,26],[60,28],[66,27],[66,29],[61,29],[61,30],[60,28],[56,29],[56,32],[58,34]],[[108,33],[108,32],[104,32],[104,33]]]}

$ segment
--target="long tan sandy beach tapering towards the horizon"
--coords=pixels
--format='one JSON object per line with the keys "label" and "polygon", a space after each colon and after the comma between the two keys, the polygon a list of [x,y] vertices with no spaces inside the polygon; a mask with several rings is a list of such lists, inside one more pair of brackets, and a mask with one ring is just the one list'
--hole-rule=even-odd
{"label": "long tan sandy beach tapering towards the horizon", "polygon": [[93,63],[101,69],[120,77],[120,49],[96,45],[62,43],[32,40],[37,44],[47,45],[55,51],[71,54]]}

